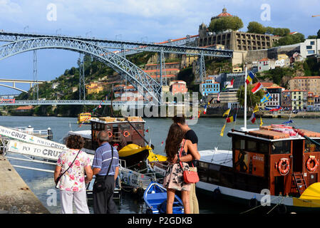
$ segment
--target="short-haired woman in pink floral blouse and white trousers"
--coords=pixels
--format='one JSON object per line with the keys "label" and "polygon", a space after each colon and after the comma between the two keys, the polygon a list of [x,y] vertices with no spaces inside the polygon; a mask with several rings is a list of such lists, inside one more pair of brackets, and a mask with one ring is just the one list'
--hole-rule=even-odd
{"label": "short-haired woman in pink floral blouse and white trousers", "polygon": [[81,151],[84,143],[80,135],[68,136],[66,147],[69,150],[61,152],[56,163],[54,181],[62,175],[57,183],[61,192],[62,214],[73,213],[73,201],[78,214],[89,214],[85,183],[92,180],[93,172],[90,158]]}

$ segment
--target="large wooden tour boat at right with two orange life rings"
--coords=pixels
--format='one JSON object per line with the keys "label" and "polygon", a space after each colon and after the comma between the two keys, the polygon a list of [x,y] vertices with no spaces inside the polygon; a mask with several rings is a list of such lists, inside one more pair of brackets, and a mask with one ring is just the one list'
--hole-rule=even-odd
{"label": "large wooden tour boat at right with two orange life rings", "polygon": [[244,127],[227,133],[232,150],[200,151],[197,189],[279,212],[320,211],[320,133],[288,125],[248,129],[246,111]]}

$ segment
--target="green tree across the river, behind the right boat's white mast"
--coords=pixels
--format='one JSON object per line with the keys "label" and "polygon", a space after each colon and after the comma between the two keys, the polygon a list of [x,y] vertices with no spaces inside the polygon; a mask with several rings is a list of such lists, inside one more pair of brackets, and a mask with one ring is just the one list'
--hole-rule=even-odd
{"label": "green tree across the river, behind the right boat's white mast", "polygon": [[[252,93],[254,86],[247,86],[247,107],[254,108],[256,104],[260,103],[260,100],[264,97],[264,90],[259,90],[257,93]],[[244,106],[244,86],[241,86],[237,92],[237,98],[240,105]]]}

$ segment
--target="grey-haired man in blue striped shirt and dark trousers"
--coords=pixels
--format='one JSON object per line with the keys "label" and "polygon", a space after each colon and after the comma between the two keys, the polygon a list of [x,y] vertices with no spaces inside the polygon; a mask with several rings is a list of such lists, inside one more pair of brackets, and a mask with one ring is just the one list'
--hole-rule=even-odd
{"label": "grey-haired man in blue striped shirt and dark trousers", "polygon": [[117,213],[115,202],[113,202],[113,192],[115,190],[115,180],[117,179],[119,172],[119,154],[115,147],[113,147],[112,156],[111,145],[108,140],[108,133],[105,131],[100,131],[98,133],[99,147],[93,158],[92,167],[93,175],[96,175],[95,182],[104,181],[105,190],[97,192],[93,188],[93,210],[95,214]]}

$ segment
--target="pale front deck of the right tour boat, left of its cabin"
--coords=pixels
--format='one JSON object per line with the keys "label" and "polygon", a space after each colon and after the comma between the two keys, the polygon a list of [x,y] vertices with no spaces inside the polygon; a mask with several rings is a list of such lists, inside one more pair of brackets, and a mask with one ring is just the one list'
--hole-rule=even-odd
{"label": "pale front deck of the right tour boat, left of its cabin", "polygon": [[232,167],[231,150],[200,150],[200,162],[210,162],[217,165]]}

